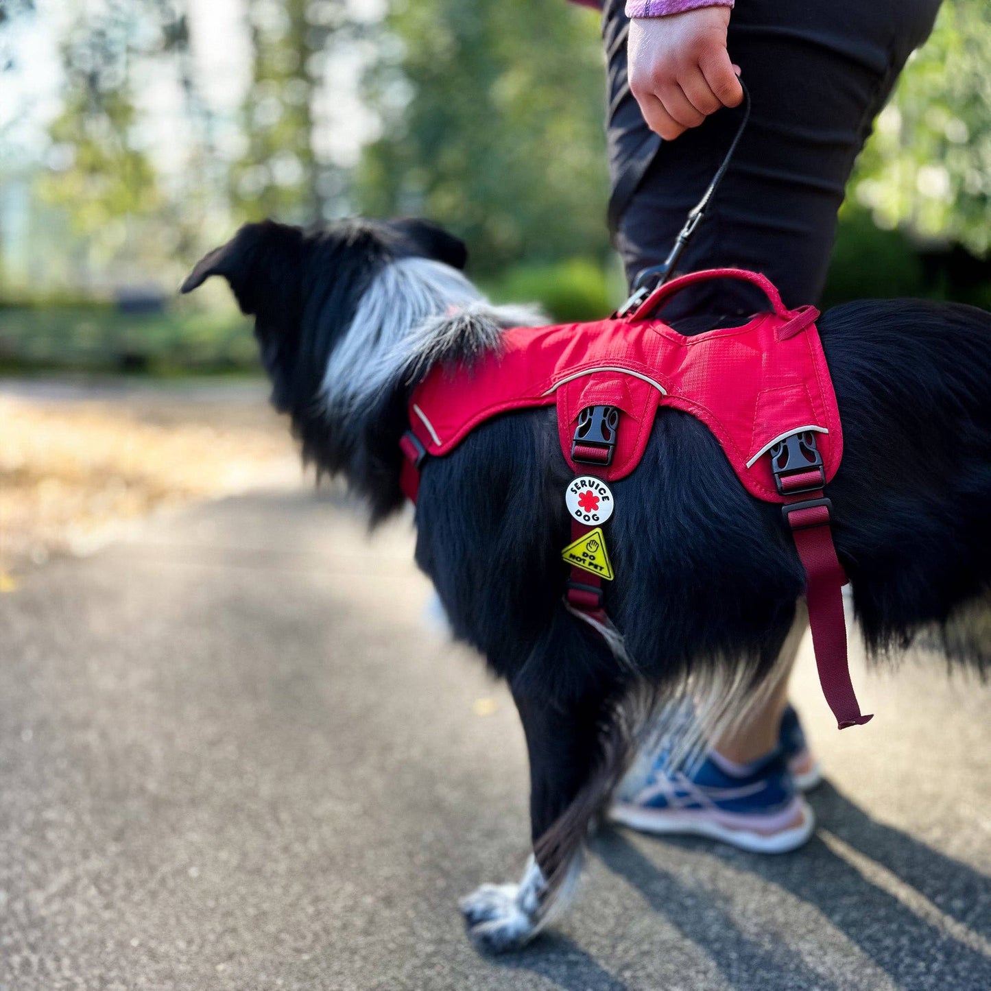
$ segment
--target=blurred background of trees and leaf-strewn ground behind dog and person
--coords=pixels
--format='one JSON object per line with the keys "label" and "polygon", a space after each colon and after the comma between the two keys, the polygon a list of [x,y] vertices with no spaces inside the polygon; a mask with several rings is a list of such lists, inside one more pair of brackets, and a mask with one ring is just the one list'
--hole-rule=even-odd
{"label": "blurred background of trees and leaf-strewn ground behind dog and person", "polygon": [[[989,63],[985,0],[947,0],[828,303],[991,306]],[[0,568],[285,455],[225,286],[174,291],[246,220],[425,215],[496,298],[607,312],[603,113],[598,17],[562,0],[0,0]]]}

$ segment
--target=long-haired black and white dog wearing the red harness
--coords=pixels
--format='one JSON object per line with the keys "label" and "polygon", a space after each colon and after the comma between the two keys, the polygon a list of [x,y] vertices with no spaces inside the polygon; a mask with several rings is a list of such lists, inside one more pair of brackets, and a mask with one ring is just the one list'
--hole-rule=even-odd
{"label": "long-haired black and white dog wearing the red harness", "polygon": [[[411,385],[437,362],[497,348],[501,329],[539,321],[491,305],[462,275],[465,261],[460,241],[422,221],[314,232],[266,222],[207,255],[182,290],[229,281],[255,317],[273,402],[303,457],[343,474],[378,521],[403,501]],[[818,325],[844,432],[827,495],[867,645],[925,633],[986,668],[991,315],[863,301]],[[644,701],[691,697],[710,726],[740,711],[773,671],[804,589],[779,508],[746,494],[698,419],[666,409],[638,469],[614,483],[624,511],[610,550],[623,568],[606,606],[621,638],[606,640],[562,601],[571,476],[544,408],[488,421],[430,461],[420,484],[417,563],[455,634],[508,682],[530,757],[529,866],[519,884],[485,885],[462,903],[472,935],[494,949],[524,942],[563,903]],[[496,581],[494,557],[525,567]]]}

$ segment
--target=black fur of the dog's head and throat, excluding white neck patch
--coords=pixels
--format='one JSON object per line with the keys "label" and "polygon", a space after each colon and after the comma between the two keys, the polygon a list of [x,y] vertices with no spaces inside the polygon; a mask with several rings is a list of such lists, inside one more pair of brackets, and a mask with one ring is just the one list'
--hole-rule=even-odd
{"label": "black fur of the dog's head and throat, excluding white neck patch", "polygon": [[245,224],[181,286],[191,292],[210,275],[227,279],[242,312],[255,317],[273,405],[289,414],[303,459],[318,473],[346,473],[375,521],[402,504],[395,458],[405,429],[402,396],[383,395],[374,415],[328,430],[317,391],[372,280],[389,262],[413,256],[457,269],[468,259],[461,241],[423,220],[342,221],[308,232],[267,220]]}

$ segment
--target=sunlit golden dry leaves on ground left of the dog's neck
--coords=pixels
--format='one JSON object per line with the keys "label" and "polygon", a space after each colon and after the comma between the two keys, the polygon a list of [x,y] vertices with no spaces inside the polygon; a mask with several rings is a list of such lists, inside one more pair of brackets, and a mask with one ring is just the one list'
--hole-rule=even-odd
{"label": "sunlit golden dry leaves on ground left of the dog's neck", "polygon": [[85,552],[162,506],[293,478],[286,424],[254,394],[0,395],[0,575]]}

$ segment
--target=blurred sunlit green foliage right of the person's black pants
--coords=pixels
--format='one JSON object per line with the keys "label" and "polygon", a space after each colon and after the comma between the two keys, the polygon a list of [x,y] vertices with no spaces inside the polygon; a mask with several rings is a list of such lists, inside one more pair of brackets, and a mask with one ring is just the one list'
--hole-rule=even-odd
{"label": "blurred sunlit green foliage right of the person's black pants", "polygon": [[878,118],[852,194],[882,228],[991,248],[991,15],[947,0]]}

